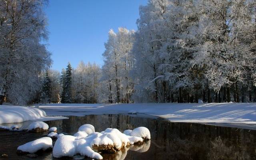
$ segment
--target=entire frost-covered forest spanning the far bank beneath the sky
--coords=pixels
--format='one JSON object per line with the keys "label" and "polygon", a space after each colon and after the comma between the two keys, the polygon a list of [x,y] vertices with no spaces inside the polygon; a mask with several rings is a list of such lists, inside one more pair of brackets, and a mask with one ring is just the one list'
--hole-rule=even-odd
{"label": "entire frost-covered forest spanning the far bank beneath the sky", "polygon": [[45,3],[0,1],[0,104],[256,102],[255,0],[148,0],[136,30],[108,32],[102,66],[61,72]]}

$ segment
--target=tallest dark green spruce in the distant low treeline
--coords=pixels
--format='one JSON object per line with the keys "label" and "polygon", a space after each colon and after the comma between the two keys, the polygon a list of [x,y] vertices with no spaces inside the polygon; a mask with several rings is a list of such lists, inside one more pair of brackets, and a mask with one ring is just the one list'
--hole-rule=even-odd
{"label": "tallest dark green spruce in the distant low treeline", "polygon": [[64,74],[64,80],[63,80],[63,91],[62,91],[62,103],[71,103],[72,98],[71,98],[71,84],[72,84],[72,67],[70,62],[68,62],[68,66],[66,68],[65,74]]}

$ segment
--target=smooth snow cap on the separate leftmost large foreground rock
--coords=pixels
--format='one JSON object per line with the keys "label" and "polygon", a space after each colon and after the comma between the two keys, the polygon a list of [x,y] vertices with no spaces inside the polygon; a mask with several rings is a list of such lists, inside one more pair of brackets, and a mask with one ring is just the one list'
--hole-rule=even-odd
{"label": "smooth snow cap on the separate leftmost large foreground rock", "polygon": [[52,148],[52,138],[43,137],[19,146],[17,149],[22,152],[35,153],[38,150]]}

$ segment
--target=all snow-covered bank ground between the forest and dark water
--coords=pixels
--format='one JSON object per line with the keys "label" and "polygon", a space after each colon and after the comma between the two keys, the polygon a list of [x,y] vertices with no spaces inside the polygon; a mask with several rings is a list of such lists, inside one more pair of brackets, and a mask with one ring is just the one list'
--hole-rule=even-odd
{"label": "all snow-covered bank ground between the forest and dark water", "polygon": [[171,122],[256,124],[256,103],[38,104],[34,107],[1,106],[0,123],[38,119],[52,120],[54,118],[52,116],[83,116],[90,114],[146,114],[165,118]]}

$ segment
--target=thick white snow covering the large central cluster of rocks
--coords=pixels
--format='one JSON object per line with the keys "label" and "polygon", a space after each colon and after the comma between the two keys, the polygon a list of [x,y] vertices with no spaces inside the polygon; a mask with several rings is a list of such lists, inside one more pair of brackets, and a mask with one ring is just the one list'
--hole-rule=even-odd
{"label": "thick white snow covering the large central cluster of rocks", "polygon": [[[91,124],[84,124],[80,129],[81,128],[86,128],[86,130],[90,128],[90,130],[94,130],[94,126]],[[150,137],[150,133],[148,134],[147,130],[148,129],[145,127],[140,127],[135,128],[133,131],[140,136],[146,135]],[[104,147],[106,150],[110,148],[120,150],[122,147],[137,142],[143,142],[143,139],[136,136],[127,136],[116,128],[106,128],[106,130],[100,133],[92,132],[89,135],[87,135],[86,132],[79,130],[74,136],[62,135],[58,137],[54,144],[53,156],[55,158],[60,158],[63,156],[72,157],[76,154],[81,154],[82,156],[101,160],[103,159],[102,156],[94,150],[101,151]]]}

